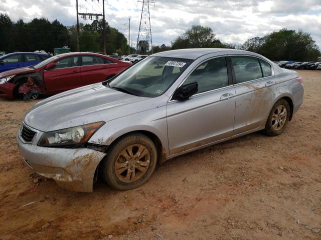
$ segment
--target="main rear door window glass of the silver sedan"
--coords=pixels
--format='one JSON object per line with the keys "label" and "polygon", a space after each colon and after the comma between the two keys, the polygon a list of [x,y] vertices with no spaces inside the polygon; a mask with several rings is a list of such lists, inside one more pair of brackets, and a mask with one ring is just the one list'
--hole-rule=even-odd
{"label": "main rear door window glass of the silver sedan", "polygon": [[236,83],[262,78],[259,59],[251,56],[231,56]]}

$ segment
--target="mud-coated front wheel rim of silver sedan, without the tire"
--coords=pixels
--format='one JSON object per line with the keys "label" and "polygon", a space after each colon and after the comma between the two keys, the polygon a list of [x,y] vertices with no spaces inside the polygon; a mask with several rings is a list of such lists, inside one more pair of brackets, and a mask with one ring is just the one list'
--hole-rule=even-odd
{"label": "mud-coated front wheel rim of silver sedan, without the tire", "polygon": [[134,182],[142,177],[149,167],[150,153],[141,144],[125,147],[115,162],[115,173],[123,182]]}

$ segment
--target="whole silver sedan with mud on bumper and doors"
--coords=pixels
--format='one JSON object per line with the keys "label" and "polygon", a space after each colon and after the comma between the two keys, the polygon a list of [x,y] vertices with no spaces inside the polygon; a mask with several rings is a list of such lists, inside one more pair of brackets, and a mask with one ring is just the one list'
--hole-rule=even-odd
{"label": "whole silver sedan with mud on bumper and doors", "polygon": [[30,167],[66,189],[92,191],[99,173],[125,190],[175,156],[254,131],[282,133],[302,98],[298,73],[259,54],[166,51],[38,102],[17,142]]}

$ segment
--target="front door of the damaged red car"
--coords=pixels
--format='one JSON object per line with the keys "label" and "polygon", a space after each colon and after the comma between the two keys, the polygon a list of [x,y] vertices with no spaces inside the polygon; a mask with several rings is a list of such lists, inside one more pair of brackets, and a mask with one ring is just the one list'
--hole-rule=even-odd
{"label": "front door of the damaged red car", "polygon": [[55,66],[44,71],[49,93],[58,93],[83,85],[79,66],[79,55],[67,56],[55,61]]}

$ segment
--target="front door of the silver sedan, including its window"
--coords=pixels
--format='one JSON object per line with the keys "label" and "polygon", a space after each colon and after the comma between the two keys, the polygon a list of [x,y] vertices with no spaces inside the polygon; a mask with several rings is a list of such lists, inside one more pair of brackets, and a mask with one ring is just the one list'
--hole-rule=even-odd
{"label": "front door of the silver sedan, including its window", "polygon": [[198,82],[198,92],[167,105],[170,154],[233,135],[235,88],[229,84],[226,57],[202,62],[183,85]]}

